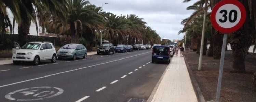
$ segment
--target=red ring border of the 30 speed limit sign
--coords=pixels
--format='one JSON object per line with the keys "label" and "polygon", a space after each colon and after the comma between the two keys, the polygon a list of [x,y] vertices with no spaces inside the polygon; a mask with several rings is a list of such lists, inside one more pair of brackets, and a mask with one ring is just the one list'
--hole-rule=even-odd
{"label": "red ring border of the 30 speed limit sign", "polygon": [[[238,22],[237,25],[235,25],[235,26],[232,27],[232,28],[223,28],[223,27],[219,26],[219,24],[217,23],[216,18],[215,18],[218,9],[219,9],[221,6],[225,5],[225,4],[234,4],[234,5],[236,5],[236,6],[240,9],[240,11],[241,11],[241,19],[240,19],[240,21]],[[240,29],[240,28],[243,26],[243,24],[244,24],[244,22],[245,22],[245,19],[246,19],[246,11],[245,11],[245,8],[244,8],[243,4],[242,4],[241,2],[239,2],[239,1],[237,1],[237,0],[223,0],[223,1],[221,1],[221,2],[219,2],[219,3],[217,3],[217,4],[215,5],[215,7],[213,8],[212,13],[211,13],[211,22],[212,22],[213,27],[214,27],[217,31],[222,32],[222,33],[232,33],[232,32],[237,31],[238,29]]]}

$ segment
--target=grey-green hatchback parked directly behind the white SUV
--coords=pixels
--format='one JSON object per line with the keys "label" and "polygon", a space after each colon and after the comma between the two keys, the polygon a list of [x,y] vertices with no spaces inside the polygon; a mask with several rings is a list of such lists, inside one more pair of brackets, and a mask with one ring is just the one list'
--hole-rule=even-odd
{"label": "grey-green hatchback parked directly behind the white SUV", "polygon": [[78,57],[87,57],[87,49],[82,44],[66,44],[57,51],[59,60],[63,58],[72,58],[76,60]]}

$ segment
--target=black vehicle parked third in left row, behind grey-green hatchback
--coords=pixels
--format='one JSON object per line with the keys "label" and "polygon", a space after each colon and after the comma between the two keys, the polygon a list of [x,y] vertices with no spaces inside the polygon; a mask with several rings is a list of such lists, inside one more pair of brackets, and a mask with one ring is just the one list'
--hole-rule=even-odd
{"label": "black vehicle parked third in left row, behind grey-green hatchback", "polygon": [[110,55],[110,53],[114,54],[116,47],[112,43],[105,43],[102,46],[97,48],[97,54],[104,53]]}

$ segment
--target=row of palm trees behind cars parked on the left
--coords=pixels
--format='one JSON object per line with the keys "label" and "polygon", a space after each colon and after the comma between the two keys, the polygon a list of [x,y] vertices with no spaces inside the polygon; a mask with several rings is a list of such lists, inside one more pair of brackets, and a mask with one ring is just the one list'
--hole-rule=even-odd
{"label": "row of palm trees behind cars parked on the left", "polygon": [[41,26],[42,33],[46,28],[48,33],[64,36],[63,44],[79,43],[82,38],[89,50],[95,46],[94,39],[100,38],[100,33],[104,34],[103,39],[113,44],[161,43],[160,36],[146,26],[143,18],[105,12],[86,0],[0,0],[0,37],[7,27],[13,33],[15,22],[11,22],[8,9],[18,24],[18,43],[21,45],[27,42],[31,23],[35,23],[36,28]]}

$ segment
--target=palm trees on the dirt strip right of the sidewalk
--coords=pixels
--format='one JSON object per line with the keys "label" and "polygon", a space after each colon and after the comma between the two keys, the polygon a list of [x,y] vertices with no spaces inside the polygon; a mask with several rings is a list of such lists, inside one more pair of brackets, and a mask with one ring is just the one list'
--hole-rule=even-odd
{"label": "palm trees on the dirt strip right of the sidewalk", "polygon": [[[184,0],[184,3],[191,0]],[[186,47],[193,49],[199,53],[200,43],[202,36],[203,15],[204,10],[207,9],[206,29],[204,38],[203,55],[213,57],[214,59],[220,59],[221,46],[223,41],[223,34],[216,31],[211,24],[210,16],[213,7],[221,0],[197,0],[196,3],[187,7],[187,10],[193,10],[194,12],[190,17],[184,19],[181,24],[184,25],[183,29],[179,33],[186,34]],[[247,12],[246,21],[241,29],[231,34],[228,34],[227,44],[231,44],[232,48],[232,68],[231,73],[250,73],[247,72],[245,59],[247,58],[248,49],[251,45],[256,45],[256,1],[255,0],[238,0],[240,1]],[[205,2],[208,6],[205,7]],[[210,48],[207,51],[207,44],[210,44]],[[256,47],[256,46],[255,46]],[[254,51],[255,51],[254,47]],[[255,70],[255,69],[254,69]],[[256,87],[256,72],[254,72],[253,84]]]}

